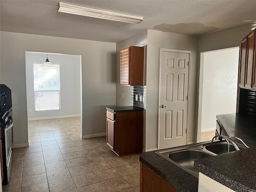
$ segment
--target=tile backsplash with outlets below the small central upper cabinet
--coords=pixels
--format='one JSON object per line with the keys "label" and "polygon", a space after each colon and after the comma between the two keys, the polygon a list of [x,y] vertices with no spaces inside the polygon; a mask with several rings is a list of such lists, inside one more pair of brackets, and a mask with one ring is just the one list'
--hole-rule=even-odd
{"label": "tile backsplash with outlets below the small central upper cabinet", "polygon": [[146,86],[131,87],[131,98],[133,106],[146,108]]}

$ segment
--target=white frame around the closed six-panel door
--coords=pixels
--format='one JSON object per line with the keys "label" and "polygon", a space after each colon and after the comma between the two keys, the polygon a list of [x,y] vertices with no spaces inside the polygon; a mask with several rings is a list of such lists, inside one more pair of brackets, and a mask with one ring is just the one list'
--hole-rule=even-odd
{"label": "white frame around the closed six-panel door", "polygon": [[192,54],[192,51],[189,51],[189,50],[178,50],[178,49],[168,49],[168,48],[160,48],[160,62],[159,62],[159,89],[158,89],[158,146],[157,148],[159,149],[159,146],[160,146],[160,94],[161,94],[161,62],[162,62],[162,52],[163,51],[167,51],[167,52],[176,52],[176,53],[188,53],[189,54],[189,71],[188,71],[188,112],[187,112],[187,138],[186,138],[186,144],[188,144],[188,134],[189,134],[189,127],[190,127],[190,124],[188,123],[189,122],[189,119],[190,119],[190,116],[189,116],[189,106],[190,106],[190,73],[191,73],[191,70],[190,70],[190,66],[191,66],[191,54]]}

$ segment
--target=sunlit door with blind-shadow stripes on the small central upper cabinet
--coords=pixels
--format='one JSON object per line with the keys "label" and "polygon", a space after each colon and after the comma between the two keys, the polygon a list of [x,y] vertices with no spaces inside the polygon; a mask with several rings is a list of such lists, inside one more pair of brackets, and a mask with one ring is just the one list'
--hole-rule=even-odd
{"label": "sunlit door with blind-shadow stripes on the small central upper cabinet", "polygon": [[122,49],[120,53],[120,83],[130,84],[130,47]]}

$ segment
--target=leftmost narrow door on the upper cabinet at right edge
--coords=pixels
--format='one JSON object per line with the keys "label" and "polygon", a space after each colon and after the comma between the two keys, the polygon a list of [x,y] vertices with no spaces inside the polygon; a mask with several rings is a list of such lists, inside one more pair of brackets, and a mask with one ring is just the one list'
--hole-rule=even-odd
{"label": "leftmost narrow door on the upper cabinet at right edge", "polygon": [[242,40],[241,52],[240,52],[239,86],[242,86],[242,87],[244,87],[244,80],[245,80],[246,56],[247,56],[247,36]]}

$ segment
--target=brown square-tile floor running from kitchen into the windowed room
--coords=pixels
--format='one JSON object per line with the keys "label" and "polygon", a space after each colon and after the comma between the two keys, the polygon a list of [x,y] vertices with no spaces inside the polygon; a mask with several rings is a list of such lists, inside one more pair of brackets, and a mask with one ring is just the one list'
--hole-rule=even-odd
{"label": "brown square-tile floor running from kitchen into the windowed room", "polygon": [[139,192],[138,154],[118,157],[106,137],[80,139],[80,118],[28,122],[29,147],[14,148],[8,192]]}

